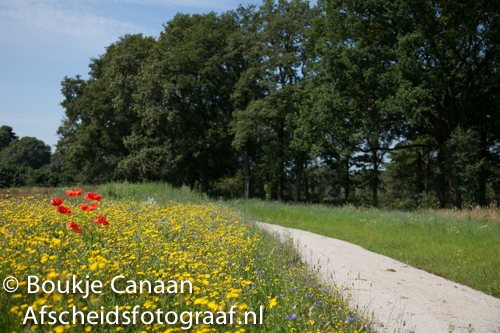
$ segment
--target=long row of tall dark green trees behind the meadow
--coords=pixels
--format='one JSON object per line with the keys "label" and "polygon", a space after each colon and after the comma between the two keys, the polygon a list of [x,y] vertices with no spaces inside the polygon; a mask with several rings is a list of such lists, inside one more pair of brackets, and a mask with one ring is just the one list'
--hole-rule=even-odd
{"label": "long row of tall dark green trees behind the meadow", "polygon": [[58,130],[82,181],[436,207],[498,200],[492,1],[264,0],[177,14],[65,77]]}

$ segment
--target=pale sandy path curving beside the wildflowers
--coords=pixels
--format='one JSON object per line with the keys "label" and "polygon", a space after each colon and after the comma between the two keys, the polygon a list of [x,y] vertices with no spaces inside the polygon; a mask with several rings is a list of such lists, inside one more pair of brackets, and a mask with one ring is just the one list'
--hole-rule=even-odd
{"label": "pale sandy path curving beside the wildflowers", "polygon": [[374,311],[378,323],[384,325],[378,331],[446,333],[453,324],[455,332],[469,332],[471,324],[475,333],[500,333],[500,299],[358,245],[307,231],[259,225],[291,236],[303,258],[311,266],[321,266],[327,281],[332,281],[334,273],[334,283],[349,286],[351,307]]}

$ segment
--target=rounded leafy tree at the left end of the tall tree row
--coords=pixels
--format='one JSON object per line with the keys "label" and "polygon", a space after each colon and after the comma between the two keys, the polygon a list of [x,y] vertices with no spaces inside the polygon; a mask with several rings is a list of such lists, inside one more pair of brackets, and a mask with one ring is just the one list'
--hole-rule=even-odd
{"label": "rounded leafy tree at the left end of the tall tree row", "polygon": [[125,35],[92,59],[88,80],[64,78],[65,118],[58,129],[58,149],[83,180],[123,177],[117,168],[129,154],[123,140],[139,123],[134,96],[141,66],[154,44],[152,37]]}

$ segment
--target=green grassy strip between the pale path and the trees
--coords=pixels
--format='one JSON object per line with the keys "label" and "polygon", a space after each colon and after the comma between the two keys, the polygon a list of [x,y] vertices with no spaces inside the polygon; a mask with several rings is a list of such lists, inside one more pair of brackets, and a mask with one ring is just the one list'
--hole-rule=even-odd
{"label": "green grassy strip between the pale path and the trees", "polygon": [[235,200],[248,218],[358,244],[489,295],[500,297],[500,223],[464,214]]}

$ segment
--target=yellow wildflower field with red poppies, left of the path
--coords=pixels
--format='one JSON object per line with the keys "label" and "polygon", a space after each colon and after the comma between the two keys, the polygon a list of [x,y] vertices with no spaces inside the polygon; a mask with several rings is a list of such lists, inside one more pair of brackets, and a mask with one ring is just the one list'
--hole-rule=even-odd
{"label": "yellow wildflower field with red poppies, left of the path", "polygon": [[0,290],[1,332],[370,330],[290,241],[227,206],[57,193],[0,197],[0,280],[19,281]]}

